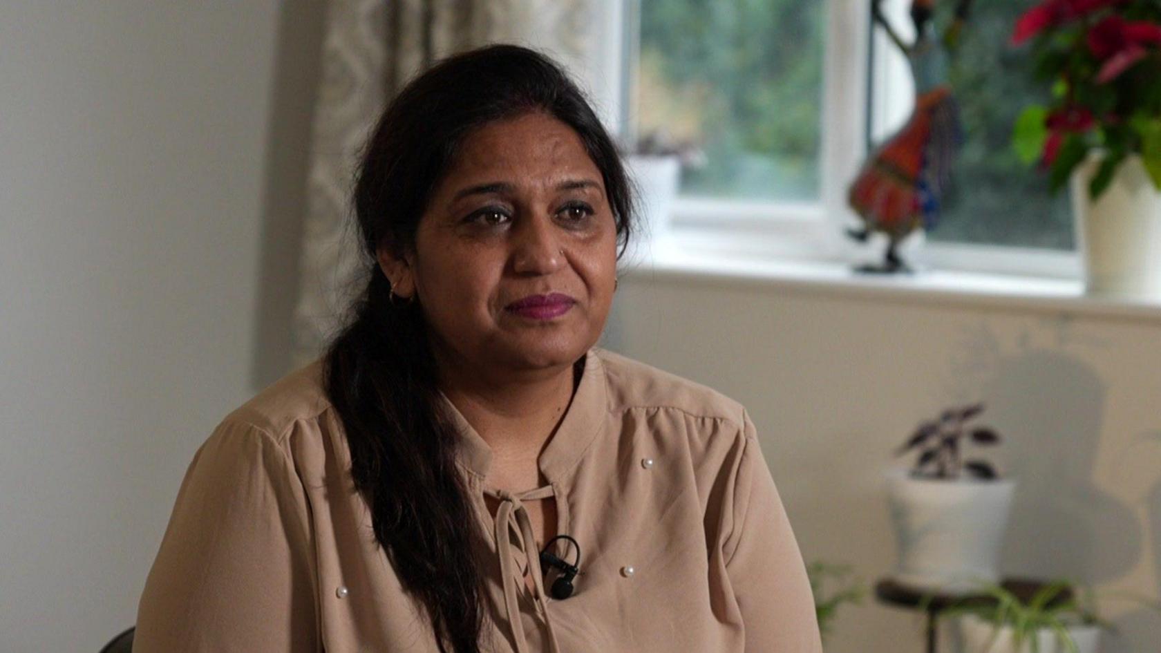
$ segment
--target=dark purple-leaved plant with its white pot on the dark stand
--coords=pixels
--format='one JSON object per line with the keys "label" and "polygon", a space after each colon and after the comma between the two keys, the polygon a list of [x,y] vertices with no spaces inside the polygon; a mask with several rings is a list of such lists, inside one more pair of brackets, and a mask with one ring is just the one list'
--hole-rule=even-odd
{"label": "dark purple-leaved plant with its white pot on the dark stand", "polygon": [[909,469],[887,475],[887,497],[899,544],[894,579],[944,593],[1000,580],[998,558],[1015,481],[1000,479],[971,445],[994,446],[1000,436],[971,423],[983,404],[949,408],[918,425],[896,455],[915,453]]}

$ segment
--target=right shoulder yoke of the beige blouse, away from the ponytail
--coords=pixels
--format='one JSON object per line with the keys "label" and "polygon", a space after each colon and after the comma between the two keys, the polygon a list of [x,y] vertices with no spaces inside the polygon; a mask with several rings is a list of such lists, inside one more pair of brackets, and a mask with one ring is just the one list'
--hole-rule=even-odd
{"label": "right shoulder yoke of the beige blouse, away from the ponytail", "polygon": [[724,394],[607,350],[594,350],[605,369],[610,410],[665,410],[697,419],[722,421],[742,430],[745,409]]}

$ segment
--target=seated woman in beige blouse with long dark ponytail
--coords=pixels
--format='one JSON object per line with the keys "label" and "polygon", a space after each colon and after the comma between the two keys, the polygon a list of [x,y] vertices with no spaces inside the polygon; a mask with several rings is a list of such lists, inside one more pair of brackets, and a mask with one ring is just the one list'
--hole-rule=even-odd
{"label": "seated woman in beige blouse with long dark ponytail", "polygon": [[630,200],[558,67],[417,78],[354,204],[366,294],[199,451],[135,651],[820,651],[745,411],[593,349]]}

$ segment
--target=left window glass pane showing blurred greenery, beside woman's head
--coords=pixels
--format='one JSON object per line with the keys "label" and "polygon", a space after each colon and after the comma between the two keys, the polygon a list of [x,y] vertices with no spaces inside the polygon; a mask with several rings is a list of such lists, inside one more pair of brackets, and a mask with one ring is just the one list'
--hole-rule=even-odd
{"label": "left window glass pane showing blurred greenery, beside woman's head", "polygon": [[819,201],[823,8],[641,0],[633,120],[700,149],[683,194]]}

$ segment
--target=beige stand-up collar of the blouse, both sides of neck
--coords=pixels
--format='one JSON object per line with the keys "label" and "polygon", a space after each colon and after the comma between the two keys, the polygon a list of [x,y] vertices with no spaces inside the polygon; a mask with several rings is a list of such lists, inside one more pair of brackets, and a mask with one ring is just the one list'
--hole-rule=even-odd
{"label": "beige stand-up collar of the blouse, both sides of neck", "polygon": [[[549,483],[558,482],[580,461],[585,450],[600,432],[607,412],[607,388],[600,357],[594,350],[585,352],[580,382],[572,394],[572,401],[561,419],[556,433],[540,453],[540,471]],[[468,423],[447,395],[440,392],[447,416],[460,436],[457,452],[460,464],[469,472],[484,479],[492,464],[492,450],[476,429]]]}

